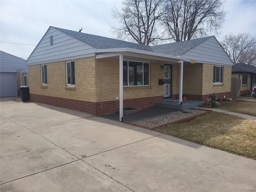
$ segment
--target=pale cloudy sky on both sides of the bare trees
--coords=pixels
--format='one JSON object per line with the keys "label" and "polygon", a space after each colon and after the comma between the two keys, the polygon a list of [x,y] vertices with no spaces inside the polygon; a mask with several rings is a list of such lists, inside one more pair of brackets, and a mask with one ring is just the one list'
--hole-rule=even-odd
{"label": "pale cloudy sky on both sides of the bare trees", "polygon": [[[0,50],[27,59],[50,26],[114,38],[118,26],[111,9],[121,0],[0,0]],[[249,32],[256,35],[256,0],[226,0],[226,20],[215,35]]]}

